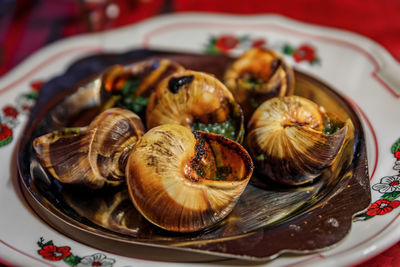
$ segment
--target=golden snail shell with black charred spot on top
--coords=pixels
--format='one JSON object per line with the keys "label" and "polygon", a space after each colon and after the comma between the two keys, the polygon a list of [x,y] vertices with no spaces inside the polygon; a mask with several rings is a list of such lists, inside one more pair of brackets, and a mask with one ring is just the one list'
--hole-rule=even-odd
{"label": "golden snail shell with black charred spot on top", "polygon": [[212,75],[186,70],[164,79],[151,95],[147,128],[180,124],[241,141],[243,115],[231,92]]}

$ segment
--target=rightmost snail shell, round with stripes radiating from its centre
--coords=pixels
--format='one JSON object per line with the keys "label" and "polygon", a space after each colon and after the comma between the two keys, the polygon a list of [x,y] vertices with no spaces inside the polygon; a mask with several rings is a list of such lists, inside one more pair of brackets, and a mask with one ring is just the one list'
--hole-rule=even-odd
{"label": "rightmost snail shell, round with stripes radiating from its centre", "polygon": [[299,185],[334,163],[347,129],[306,98],[272,98],[254,112],[246,145],[261,177]]}

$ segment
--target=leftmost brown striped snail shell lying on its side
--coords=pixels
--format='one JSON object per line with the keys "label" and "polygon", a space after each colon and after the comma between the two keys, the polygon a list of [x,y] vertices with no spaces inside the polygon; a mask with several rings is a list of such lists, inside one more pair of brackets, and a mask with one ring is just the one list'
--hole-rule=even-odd
{"label": "leftmost brown striped snail shell lying on its side", "polygon": [[143,133],[144,126],[135,113],[112,108],[87,127],[40,136],[33,147],[41,164],[57,180],[97,189],[125,180],[127,156]]}

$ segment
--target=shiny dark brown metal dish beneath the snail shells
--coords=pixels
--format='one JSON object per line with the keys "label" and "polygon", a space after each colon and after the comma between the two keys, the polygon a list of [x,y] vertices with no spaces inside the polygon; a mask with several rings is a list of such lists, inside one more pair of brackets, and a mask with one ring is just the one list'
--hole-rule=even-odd
{"label": "shiny dark brown metal dish beneath the snail shells", "polygon": [[132,50],[83,58],[47,82],[18,149],[22,191],[44,221],[80,242],[126,256],[132,256],[137,245],[146,245],[270,260],[284,252],[328,249],[345,238],[353,215],[370,203],[363,129],[343,97],[299,71],[295,71],[295,95],[316,102],[350,125],[339,160],[312,184],[296,188],[261,184],[253,177],[232,213],[205,231],[176,234],[161,230],[134,208],[124,186],[89,191],[61,184],[44,170],[33,150],[34,138],[62,127],[85,125],[99,113],[98,73],[114,64],[154,58],[167,58],[220,79],[233,61],[226,56]]}

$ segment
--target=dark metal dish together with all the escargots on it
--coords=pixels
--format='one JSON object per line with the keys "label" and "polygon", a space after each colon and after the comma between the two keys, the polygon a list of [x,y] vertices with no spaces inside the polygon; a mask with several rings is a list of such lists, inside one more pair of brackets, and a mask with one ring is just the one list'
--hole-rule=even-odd
{"label": "dark metal dish together with all the escargots on it", "polygon": [[[294,69],[291,94],[285,63],[252,51],[241,69],[237,49],[140,48],[49,72],[16,146],[15,189],[60,234],[123,257],[257,264],[331,249],[371,203],[371,129],[343,89]],[[228,69],[257,100],[245,120]],[[268,77],[288,91],[252,95]]]}

